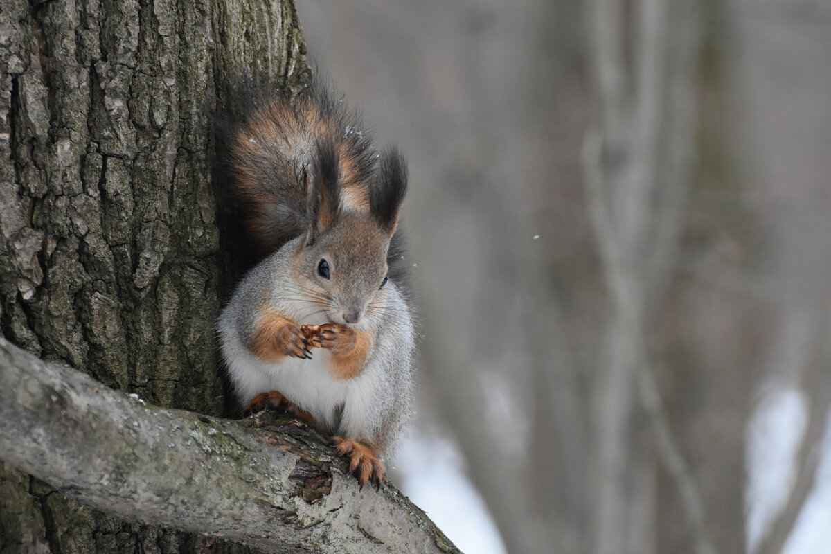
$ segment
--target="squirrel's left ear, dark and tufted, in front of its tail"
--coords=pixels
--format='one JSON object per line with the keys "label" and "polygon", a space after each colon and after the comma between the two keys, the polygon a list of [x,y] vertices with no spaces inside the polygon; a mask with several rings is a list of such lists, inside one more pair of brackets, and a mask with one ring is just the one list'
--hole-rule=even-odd
{"label": "squirrel's left ear, dark and tufted, in front of its tail", "polygon": [[305,245],[314,243],[318,233],[334,225],[341,208],[341,158],[331,139],[317,141],[317,154],[308,187],[309,220]]}

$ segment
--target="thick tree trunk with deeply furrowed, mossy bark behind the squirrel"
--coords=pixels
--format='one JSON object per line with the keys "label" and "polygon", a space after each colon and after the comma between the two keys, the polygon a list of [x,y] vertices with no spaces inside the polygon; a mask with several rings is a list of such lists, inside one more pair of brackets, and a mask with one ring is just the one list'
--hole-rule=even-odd
{"label": "thick tree trunk with deeply furrowed, mossy bark behind the squirrel", "polygon": [[[161,406],[220,415],[213,115],[245,68],[296,89],[290,0],[0,0],[0,331]],[[238,547],[212,543],[211,552]],[[0,552],[201,552],[0,466]]]}

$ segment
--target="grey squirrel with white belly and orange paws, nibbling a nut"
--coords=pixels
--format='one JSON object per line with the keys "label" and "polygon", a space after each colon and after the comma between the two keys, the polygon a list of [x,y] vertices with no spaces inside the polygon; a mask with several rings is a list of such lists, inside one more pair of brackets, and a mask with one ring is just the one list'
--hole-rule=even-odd
{"label": "grey squirrel with white belly and orange paws, nibbling a nut", "polygon": [[[253,103],[225,137],[248,233],[271,252],[218,321],[244,414],[283,408],[331,437],[360,483],[381,487],[411,413],[416,332],[398,220],[404,159],[312,84]],[[398,263],[396,263],[398,262]]]}

